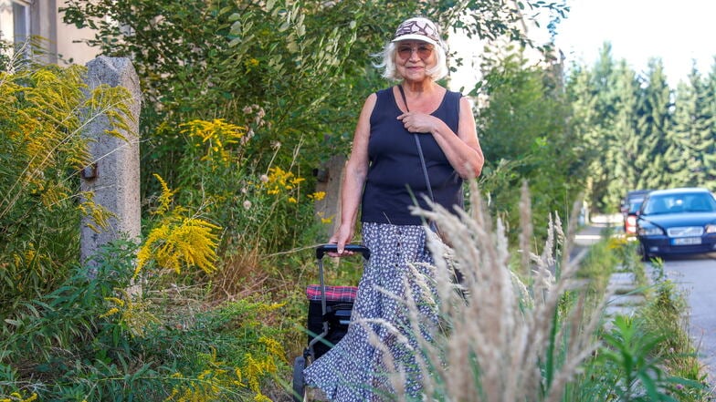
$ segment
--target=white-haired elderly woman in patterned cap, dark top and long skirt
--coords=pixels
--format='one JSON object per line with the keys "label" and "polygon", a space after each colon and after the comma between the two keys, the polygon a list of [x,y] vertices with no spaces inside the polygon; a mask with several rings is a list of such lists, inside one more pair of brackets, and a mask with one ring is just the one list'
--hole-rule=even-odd
{"label": "white-haired elderly woman in patterned cap, dark top and long skirt", "polygon": [[[377,67],[397,85],[365,100],[342,182],[340,226],[329,241],[337,244],[332,256],[348,253],[360,208],[371,259],[348,333],[304,371],[306,384],[333,401],[383,400],[403,389],[420,396],[419,346],[400,301],[420,293],[416,271],[432,276],[433,259],[411,206],[427,209],[432,199],[451,211],[461,207],[462,180],[479,176],[484,161],[469,100],[436,82],[447,75],[447,57],[433,22],[405,20]],[[405,372],[402,389],[390,380],[397,370]]]}

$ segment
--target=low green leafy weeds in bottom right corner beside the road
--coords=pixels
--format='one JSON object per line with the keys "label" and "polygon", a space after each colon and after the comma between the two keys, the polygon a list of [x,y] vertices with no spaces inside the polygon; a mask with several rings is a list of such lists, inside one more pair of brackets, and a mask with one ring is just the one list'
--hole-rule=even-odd
{"label": "low green leafy weeds in bottom right corner beside the road", "polygon": [[[637,283],[646,283],[634,242],[603,243],[612,244],[605,250],[612,253],[606,258],[614,264],[612,272],[634,273]],[[705,376],[685,332],[685,301],[660,263],[652,270],[653,285],[642,287],[646,303],[633,315],[607,317],[600,347],[564,400],[708,400]]]}

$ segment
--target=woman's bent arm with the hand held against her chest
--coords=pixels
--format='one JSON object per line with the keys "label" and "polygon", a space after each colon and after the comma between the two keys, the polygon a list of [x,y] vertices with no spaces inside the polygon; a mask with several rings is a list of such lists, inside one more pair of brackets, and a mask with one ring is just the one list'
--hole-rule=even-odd
{"label": "woman's bent arm with the hand held against her chest", "polygon": [[[407,112],[399,116],[410,132],[431,133],[445,152],[453,169],[463,179],[473,179],[482,172],[485,159],[479,146],[475,118],[468,98],[460,98],[458,132],[454,133],[444,121],[421,112]],[[457,135],[456,135],[457,134]]]}

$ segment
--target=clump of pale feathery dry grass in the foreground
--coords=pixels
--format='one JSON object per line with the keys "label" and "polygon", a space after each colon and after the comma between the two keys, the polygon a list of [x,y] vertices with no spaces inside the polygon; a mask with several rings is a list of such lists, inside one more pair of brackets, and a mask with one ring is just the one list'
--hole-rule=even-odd
{"label": "clump of pale feathery dry grass in the foreground", "polygon": [[[437,401],[559,401],[565,385],[597,347],[595,330],[601,304],[588,309],[577,264],[567,258],[571,244],[554,216],[542,251],[532,250],[529,193],[522,191],[520,266],[511,266],[502,222],[493,227],[479,191],[472,184],[471,213],[451,213],[439,206],[416,211],[445,232],[447,249],[437,236],[428,247],[437,256],[436,295],[439,321],[433,335],[423,336],[414,301],[405,302],[416,334],[418,366],[426,397]],[[453,280],[454,269],[462,276]],[[408,298],[410,299],[410,298]],[[422,303],[422,302],[421,302]],[[397,400],[407,400],[401,382],[410,367],[384,356]]]}

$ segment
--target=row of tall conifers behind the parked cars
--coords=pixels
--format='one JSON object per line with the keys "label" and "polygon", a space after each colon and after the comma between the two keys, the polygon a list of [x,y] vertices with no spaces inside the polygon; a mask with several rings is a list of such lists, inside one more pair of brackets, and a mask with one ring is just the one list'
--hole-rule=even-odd
{"label": "row of tall conifers behind the parked cars", "polygon": [[571,129],[594,152],[587,197],[595,210],[616,211],[630,190],[711,188],[713,73],[694,69],[688,82],[669,88],[660,59],[637,74],[612,58],[608,43],[594,66],[573,66],[566,81]]}

